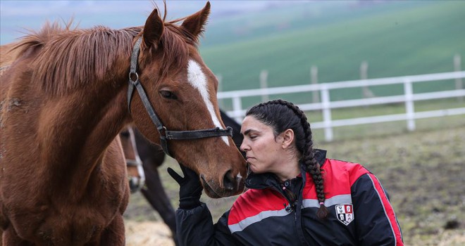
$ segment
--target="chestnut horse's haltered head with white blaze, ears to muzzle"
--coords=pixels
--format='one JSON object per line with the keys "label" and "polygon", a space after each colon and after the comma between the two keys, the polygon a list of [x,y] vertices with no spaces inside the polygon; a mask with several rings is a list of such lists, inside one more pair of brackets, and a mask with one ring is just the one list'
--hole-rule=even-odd
{"label": "chestnut horse's haltered head with white blaze, ears to muzzle", "polygon": [[196,171],[207,195],[221,198],[242,192],[247,169],[220,117],[218,80],[197,49],[209,13],[207,2],[193,15],[165,22],[154,9],[136,37],[128,103],[137,129]]}

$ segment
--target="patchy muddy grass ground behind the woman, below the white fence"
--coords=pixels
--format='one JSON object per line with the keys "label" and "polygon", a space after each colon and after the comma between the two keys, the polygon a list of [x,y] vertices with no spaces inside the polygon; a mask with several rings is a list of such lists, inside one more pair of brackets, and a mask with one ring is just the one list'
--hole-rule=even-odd
{"label": "patchy muddy grass ground behind the woman, below the white fence", "polygon": [[[364,164],[376,174],[390,194],[406,245],[464,245],[465,120],[454,126],[447,122],[428,131],[370,137],[359,129],[357,138],[316,141],[316,148],[328,150],[330,158]],[[172,159],[161,167],[163,185],[177,207],[178,184],[166,173],[167,167],[178,167]],[[212,200],[204,195],[202,200],[216,221],[235,198]],[[126,220],[159,218],[140,194],[132,195]]]}

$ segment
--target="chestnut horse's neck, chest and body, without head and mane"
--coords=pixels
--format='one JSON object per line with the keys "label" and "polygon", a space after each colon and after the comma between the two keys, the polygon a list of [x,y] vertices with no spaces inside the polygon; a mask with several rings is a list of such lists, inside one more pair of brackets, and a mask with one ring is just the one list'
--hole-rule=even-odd
{"label": "chestnut horse's neck, chest and body, without head and mane", "polygon": [[[40,34],[37,43],[51,39]],[[113,141],[120,126],[111,124],[123,110],[108,107],[118,96],[102,93],[91,103],[85,89],[44,92],[32,76],[46,47],[23,47],[1,77],[4,245],[123,245],[128,183]]]}

